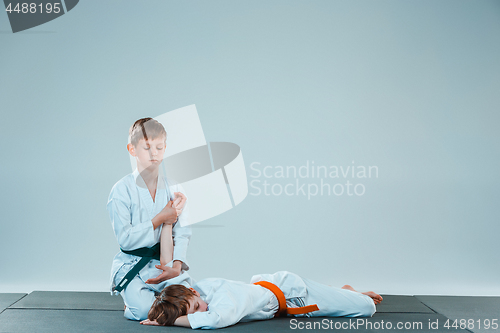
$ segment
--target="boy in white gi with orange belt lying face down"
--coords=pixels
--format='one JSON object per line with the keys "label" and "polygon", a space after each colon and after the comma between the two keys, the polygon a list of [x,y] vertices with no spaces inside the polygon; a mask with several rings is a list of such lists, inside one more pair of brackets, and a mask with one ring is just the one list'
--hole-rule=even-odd
{"label": "boy in white gi with orange belt lying face down", "polygon": [[371,317],[382,297],[351,286],[326,286],[290,272],[252,277],[252,284],[204,279],[188,289],[165,288],[156,298],[145,325],[215,329],[279,315]]}

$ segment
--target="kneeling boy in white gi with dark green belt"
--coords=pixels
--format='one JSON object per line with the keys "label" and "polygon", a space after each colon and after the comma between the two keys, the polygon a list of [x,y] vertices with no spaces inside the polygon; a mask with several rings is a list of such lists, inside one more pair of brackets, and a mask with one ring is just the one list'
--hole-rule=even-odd
{"label": "kneeling boy in white gi with dark green belt", "polygon": [[[132,125],[127,149],[137,169],[113,186],[107,204],[121,249],[113,259],[111,290],[120,292],[125,317],[132,320],[147,318],[155,294],[167,285],[192,282],[185,272],[191,229],[176,223],[188,218],[186,197],[159,172],[166,137],[163,125],[152,118]],[[160,236],[168,240],[162,242],[161,261]]]}

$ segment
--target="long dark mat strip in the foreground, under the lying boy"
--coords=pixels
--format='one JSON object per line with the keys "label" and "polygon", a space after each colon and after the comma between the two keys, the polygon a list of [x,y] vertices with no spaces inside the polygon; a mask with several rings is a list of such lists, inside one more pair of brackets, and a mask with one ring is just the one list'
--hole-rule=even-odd
{"label": "long dark mat strip in the foreground, under the lying boy", "polygon": [[[429,329],[429,323],[438,329]],[[450,332],[446,318],[427,313],[379,313],[372,318],[278,318],[239,323],[223,332]],[[390,323],[390,324],[389,324]],[[383,326],[382,326],[383,325]],[[401,329],[398,329],[401,327]],[[391,327],[388,329],[388,326]],[[384,329],[382,329],[384,327]],[[121,311],[6,309],[0,315],[0,332],[188,332],[181,327],[143,326],[127,320]],[[463,330],[451,330],[465,332]]]}

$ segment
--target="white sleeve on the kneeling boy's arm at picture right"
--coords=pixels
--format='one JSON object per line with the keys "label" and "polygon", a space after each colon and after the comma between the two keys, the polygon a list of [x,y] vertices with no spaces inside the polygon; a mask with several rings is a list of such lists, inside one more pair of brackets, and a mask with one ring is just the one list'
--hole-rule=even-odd
{"label": "white sleeve on the kneeling boy's arm at picture right", "polygon": [[[189,270],[189,265],[187,264],[187,248],[192,233],[191,227],[189,227],[189,198],[187,198],[186,193],[180,185],[177,186],[175,192],[183,193],[186,196],[186,203],[184,204],[181,215],[179,215],[179,221],[177,221],[172,228],[172,237],[174,238],[173,260],[181,261],[182,269],[187,271]],[[183,227],[183,225],[185,227]]]}

